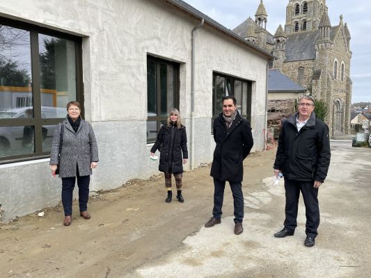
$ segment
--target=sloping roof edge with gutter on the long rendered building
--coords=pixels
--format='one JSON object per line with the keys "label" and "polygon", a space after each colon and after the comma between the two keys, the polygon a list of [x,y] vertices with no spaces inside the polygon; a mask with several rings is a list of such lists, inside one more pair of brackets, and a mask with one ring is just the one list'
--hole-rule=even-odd
{"label": "sloping roof edge with gutter on the long rendered building", "polygon": [[223,33],[226,33],[227,35],[230,35],[230,37],[235,38],[239,42],[242,42],[242,43],[248,45],[248,47],[251,47],[252,49],[255,49],[256,51],[260,52],[261,54],[264,54],[265,56],[267,56],[269,58],[269,60],[274,58],[274,56],[271,55],[265,49],[262,49],[262,48],[258,47],[257,45],[253,44],[252,42],[248,42],[247,40],[244,40],[244,38],[237,35],[232,30],[226,28],[226,26],[223,26],[219,22],[216,22],[211,17],[208,17],[204,13],[201,13],[199,10],[197,10],[196,8],[189,5],[189,3],[186,3],[182,0],[166,0],[166,1],[168,3],[173,4],[177,8],[180,8],[180,9],[184,10],[184,12],[189,13],[190,15],[193,15],[194,17],[197,17],[198,19],[204,19],[205,23],[210,24],[214,28],[217,28],[219,31],[222,31]]}

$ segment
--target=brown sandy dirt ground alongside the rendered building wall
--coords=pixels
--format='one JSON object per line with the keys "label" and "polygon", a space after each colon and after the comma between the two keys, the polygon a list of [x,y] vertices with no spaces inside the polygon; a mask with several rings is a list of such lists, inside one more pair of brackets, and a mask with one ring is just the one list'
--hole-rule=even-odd
{"label": "brown sandy dirt ground alongside the rendered building wall", "polygon": [[[253,197],[253,193],[262,191],[262,180],[271,177],[273,172],[274,155],[275,150],[273,149],[256,152],[246,158],[243,182],[245,196]],[[45,215],[43,217],[38,217],[38,213],[33,213],[18,218],[14,222],[1,224],[0,277],[236,277],[232,273],[215,275],[213,272],[203,275],[187,275],[187,272],[184,273],[182,270],[178,272],[179,275],[165,274],[160,276],[156,275],[155,272],[150,272],[149,275],[145,275],[145,272],[142,272],[142,275],[139,274],[139,268],[145,265],[159,265],[171,259],[172,256],[176,256],[177,250],[182,250],[180,252],[184,252],[184,248],[187,250],[189,247],[184,246],[184,240],[187,241],[190,236],[196,238],[195,235],[200,234],[200,231],[212,231],[203,228],[203,224],[212,215],[214,187],[210,177],[210,165],[185,172],[183,184],[185,199],[183,204],[177,202],[176,199],[173,199],[171,204],[164,202],[166,198],[164,177],[159,175],[146,181],[130,181],[117,190],[93,195],[88,203],[88,211],[92,217],[90,220],[79,217],[78,204],[74,202],[74,213],[70,227],[64,227],[62,224],[62,206],[44,210]],[[274,240],[271,234],[281,229],[284,216],[282,188],[275,190],[281,191],[274,193],[278,197],[269,201],[269,207],[267,204],[260,206],[263,212],[267,213],[269,211],[274,219],[274,221],[269,220],[269,224],[265,224],[265,227],[262,228],[267,230],[269,240]],[[370,193],[370,190],[368,193]],[[338,199],[336,199],[336,204],[331,204],[331,209],[339,208],[341,211],[341,206],[342,202],[338,202]],[[368,208],[370,206],[367,206]],[[361,208],[359,209],[361,210]],[[246,213],[257,215],[260,212],[258,208],[250,206],[245,208],[245,218]],[[229,186],[226,186],[223,217],[230,217],[232,214],[232,196]],[[264,213],[259,215],[260,219],[263,219],[263,215]],[[366,217],[367,215],[363,216]],[[249,223],[246,221],[246,224],[244,224],[245,231],[242,236],[251,236],[252,232],[257,232],[258,228],[248,227]],[[301,230],[303,230],[302,222],[300,225]],[[331,227],[336,226],[336,223],[329,223],[329,226],[326,226],[325,220],[324,225],[324,229],[329,227],[329,233],[333,233]],[[361,227],[363,224],[359,225]],[[369,226],[370,224],[368,224]],[[237,236],[232,234],[231,225],[226,229],[226,231],[221,232],[223,234],[230,233],[233,238],[239,240]],[[306,247],[302,246],[303,238],[298,240],[298,243],[295,243],[292,247],[293,250],[300,248],[300,250],[303,250],[300,252],[307,252],[308,248],[305,249]],[[326,240],[331,240],[331,235],[325,236],[322,244],[326,244],[328,242]],[[260,244],[264,245],[265,240],[262,239],[261,241],[263,242]],[[336,245],[335,250],[341,250],[341,240],[336,237],[335,241],[333,243]],[[273,243],[273,246],[276,243]],[[279,244],[281,243],[283,246],[286,244],[282,240]],[[357,250],[356,245],[359,244],[359,241],[352,244],[352,252],[356,252],[354,250]],[[364,246],[366,250],[368,246],[370,244],[366,243]],[[313,248],[316,247],[317,245]],[[250,245],[248,248],[251,250]],[[258,247],[255,246],[254,248],[257,249]],[[265,247],[260,249],[262,252],[267,252]],[[238,253],[239,251],[235,250],[234,252]],[[248,258],[251,259],[251,256],[254,256],[253,252]],[[287,254],[289,252],[291,251],[287,250]],[[336,251],[334,252],[336,253]],[[363,259],[359,258],[361,261],[357,261],[355,264],[358,265],[356,271],[359,271],[356,273],[361,273],[357,277],[368,277],[363,276],[365,272],[370,270],[370,268],[365,267],[365,261],[363,260],[367,260],[370,256],[364,248],[361,248],[359,252],[357,255],[349,252],[349,256],[344,259],[346,261],[344,263],[345,268],[354,267],[354,265],[349,265],[349,258],[352,262],[352,260],[356,260],[352,259],[354,256],[363,256]],[[277,256],[281,256],[280,254],[283,253],[283,251],[279,251]],[[255,254],[258,253],[255,252]],[[303,254],[305,256],[305,253]],[[318,256],[322,256],[322,254],[326,255],[326,253],[319,252]],[[218,258],[222,255],[215,254],[215,256]],[[241,272],[240,270],[238,277],[299,277],[295,275],[295,272],[287,272],[290,262],[285,263],[285,259],[282,257],[278,261],[279,263],[271,270],[266,268],[269,265],[274,266],[277,262],[273,260],[272,263],[271,259],[264,263],[260,261],[260,265],[257,263],[260,270],[255,267],[253,272]],[[199,262],[196,259],[188,260],[186,263],[188,266],[196,267]],[[360,265],[361,268],[359,268]],[[293,268],[295,269],[297,266]],[[338,273],[339,276],[331,277],[354,277],[347,276],[347,272]],[[312,277],[316,276],[312,275]],[[321,277],[326,276],[322,275]]]}

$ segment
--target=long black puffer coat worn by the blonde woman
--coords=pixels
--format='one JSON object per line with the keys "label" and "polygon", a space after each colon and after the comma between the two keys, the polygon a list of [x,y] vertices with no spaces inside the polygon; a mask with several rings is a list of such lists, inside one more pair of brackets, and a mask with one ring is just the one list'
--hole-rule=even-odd
{"label": "long black puffer coat worn by the blonde woman", "polygon": [[[183,172],[183,158],[188,159],[187,133],[185,126],[162,126],[150,152],[161,146],[159,171],[178,174]],[[182,155],[183,153],[183,155]]]}

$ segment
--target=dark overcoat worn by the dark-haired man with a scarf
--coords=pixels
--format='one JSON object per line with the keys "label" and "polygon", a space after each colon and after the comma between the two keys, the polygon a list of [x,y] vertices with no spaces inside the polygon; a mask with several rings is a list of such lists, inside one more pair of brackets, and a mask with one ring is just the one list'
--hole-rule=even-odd
{"label": "dark overcoat worn by the dark-haired man with a scarf", "polygon": [[216,147],[212,161],[211,176],[221,181],[241,182],[244,177],[244,159],[253,147],[251,127],[237,111],[229,129],[220,114],[214,120]]}

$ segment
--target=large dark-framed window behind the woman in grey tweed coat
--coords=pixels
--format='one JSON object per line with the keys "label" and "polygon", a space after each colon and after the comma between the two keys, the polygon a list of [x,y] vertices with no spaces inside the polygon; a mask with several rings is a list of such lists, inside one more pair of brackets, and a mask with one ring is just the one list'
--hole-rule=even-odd
{"label": "large dark-framed window behind the woman in grey tweed coat", "polygon": [[0,17],[0,163],[49,156],[68,101],[83,104],[81,38]]}

